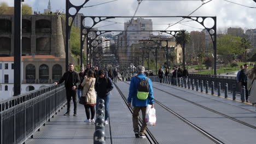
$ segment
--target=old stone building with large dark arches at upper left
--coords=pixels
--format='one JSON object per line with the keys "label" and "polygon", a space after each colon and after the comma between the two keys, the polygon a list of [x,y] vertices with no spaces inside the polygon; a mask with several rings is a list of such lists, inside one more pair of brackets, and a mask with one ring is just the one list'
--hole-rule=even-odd
{"label": "old stone building with large dark arches at upper left", "polygon": [[[53,55],[63,58],[64,39],[65,20],[61,15],[22,16],[22,56]],[[14,16],[0,15],[0,57],[10,56],[14,56]]]}

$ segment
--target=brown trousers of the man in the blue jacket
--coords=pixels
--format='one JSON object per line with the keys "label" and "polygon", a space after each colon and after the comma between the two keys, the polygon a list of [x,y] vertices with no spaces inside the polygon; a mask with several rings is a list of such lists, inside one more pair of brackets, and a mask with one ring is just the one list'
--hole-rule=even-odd
{"label": "brown trousers of the man in the blue jacket", "polygon": [[[147,106],[133,106],[133,114],[132,114],[132,124],[133,124],[133,131],[139,132],[140,134],[144,134],[146,132],[147,124],[146,124],[146,109]],[[141,130],[139,131],[138,127],[138,118],[139,118],[139,111],[142,112],[142,126]]]}

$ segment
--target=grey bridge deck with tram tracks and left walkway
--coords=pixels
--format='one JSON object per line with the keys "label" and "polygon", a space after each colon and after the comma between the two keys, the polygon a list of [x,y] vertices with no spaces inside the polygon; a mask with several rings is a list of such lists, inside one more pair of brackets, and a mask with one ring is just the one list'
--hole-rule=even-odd
{"label": "grey bridge deck with tram tracks and left walkway", "polygon": [[[117,82],[117,86],[127,98],[129,83]],[[254,141],[256,129],[252,127],[256,127],[256,116],[255,108],[252,105],[162,83],[153,83],[153,86],[156,100],[218,140],[224,143]],[[189,101],[233,117],[238,121],[246,122],[252,127],[232,121]],[[157,124],[155,127],[148,127],[148,129],[159,143],[214,143],[160,105],[155,104],[155,109]],[[132,114],[116,88],[110,93],[109,111],[106,143],[149,143],[147,139],[135,138],[132,128]],[[34,133],[33,139],[28,139],[26,143],[93,143],[95,126],[83,122],[85,119],[84,107],[78,105],[77,117],[63,116],[65,112],[66,107],[54,118],[51,118],[45,127]]]}

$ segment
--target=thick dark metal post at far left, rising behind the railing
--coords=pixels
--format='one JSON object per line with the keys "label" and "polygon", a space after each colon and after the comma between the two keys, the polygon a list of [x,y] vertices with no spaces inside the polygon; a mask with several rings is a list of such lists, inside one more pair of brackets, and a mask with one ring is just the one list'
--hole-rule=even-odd
{"label": "thick dark metal post at far left, rising behind the railing", "polygon": [[14,96],[20,95],[21,89],[21,0],[14,1]]}

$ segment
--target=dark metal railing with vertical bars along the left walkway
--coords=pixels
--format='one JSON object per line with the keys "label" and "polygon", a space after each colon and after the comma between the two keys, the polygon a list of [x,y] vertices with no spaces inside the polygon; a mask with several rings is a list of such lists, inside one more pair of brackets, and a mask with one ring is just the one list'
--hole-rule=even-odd
{"label": "dark metal railing with vertical bars along the left walkway", "polygon": [[0,101],[0,143],[25,143],[65,102],[63,85],[44,87]]}

